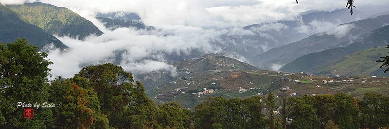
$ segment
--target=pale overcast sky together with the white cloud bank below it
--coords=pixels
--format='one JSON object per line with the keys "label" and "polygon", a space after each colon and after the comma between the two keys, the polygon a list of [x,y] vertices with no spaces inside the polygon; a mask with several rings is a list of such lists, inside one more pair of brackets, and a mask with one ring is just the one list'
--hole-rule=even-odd
{"label": "pale overcast sky together with the white cloud bank below it", "polygon": [[[26,0],[0,0],[3,4],[20,4]],[[27,0],[34,2],[37,0]],[[53,77],[71,77],[85,64],[113,62],[117,51],[125,51],[120,65],[129,72],[176,69],[166,63],[161,53],[189,54],[192,49],[218,53],[212,44],[220,36],[250,35],[241,27],[261,22],[293,18],[308,10],[345,8],[347,0],[39,0],[66,7],[93,22],[105,34],[85,41],[58,37],[70,47],[67,52],[52,49],[49,58]],[[385,6],[384,6],[385,5]],[[389,0],[355,0],[356,9],[373,14],[387,11]],[[94,18],[96,12],[136,12],[142,21],[159,30],[128,28],[110,31]],[[317,23],[318,27],[326,24]],[[328,25],[335,26],[336,25]],[[328,28],[327,28],[328,29]],[[331,28],[330,28],[331,29]],[[322,30],[325,31],[326,29]],[[343,30],[343,29],[342,29]],[[315,31],[316,32],[316,31]],[[168,35],[168,36],[165,36]],[[222,42],[223,43],[223,42]],[[237,57],[241,58],[241,57]],[[246,59],[245,59],[246,60]]]}

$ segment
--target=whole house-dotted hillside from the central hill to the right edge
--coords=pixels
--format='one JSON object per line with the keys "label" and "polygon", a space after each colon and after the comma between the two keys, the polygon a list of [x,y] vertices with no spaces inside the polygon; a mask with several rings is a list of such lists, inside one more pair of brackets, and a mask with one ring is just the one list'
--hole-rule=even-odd
{"label": "whole house-dotted hillside from the central hill to the right edge", "polygon": [[[249,98],[272,92],[276,96],[304,96],[345,92],[353,97],[379,90],[388,93],[389,78],[369,76],[307,75],[304,72],[288,73],[258,70],[253,66],[220,54],[209,54],[172,63],[177,73],[154,71],[136,75],[146,87],[147,96],[156,104],[178,102],[193,109],[209,97]],[[323,83],[326,80],[326,83]],[[327,83],[327,81],[333,82]],[[347,80],[347,81],[343,81]],[[371,83],[361,83],[371,82]],[[379,82],[380,81],[380,82]]]}

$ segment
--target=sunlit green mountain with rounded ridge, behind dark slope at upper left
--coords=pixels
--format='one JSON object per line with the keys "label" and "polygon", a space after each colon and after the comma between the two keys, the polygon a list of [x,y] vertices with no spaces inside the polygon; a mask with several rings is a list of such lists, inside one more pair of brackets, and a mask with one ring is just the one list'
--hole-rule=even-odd
{"label": "sunlit green mountain with rounded ridge, behind dark slope at upper left", "polygon": [[7,7],[52,35],[70,36],[83,40],[89,35],[103,34],[92,22],[64,7],[41,2],[7,5]]}

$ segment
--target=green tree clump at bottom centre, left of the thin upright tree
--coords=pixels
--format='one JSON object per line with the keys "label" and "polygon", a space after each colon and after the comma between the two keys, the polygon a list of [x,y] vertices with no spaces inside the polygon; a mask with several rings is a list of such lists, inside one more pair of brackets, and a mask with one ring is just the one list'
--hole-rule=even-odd
{"label": "green tree clump at bottom centre, left of the thin upright tree", "polygon": [[261,97],[247,100],[208,98],[195,107],[196,129],[265,128],[264,107]]}

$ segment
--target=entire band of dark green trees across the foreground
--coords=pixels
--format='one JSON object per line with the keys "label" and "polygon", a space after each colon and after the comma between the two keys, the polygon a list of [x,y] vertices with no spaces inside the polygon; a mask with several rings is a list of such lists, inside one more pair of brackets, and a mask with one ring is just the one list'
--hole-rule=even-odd
{"label": "entire band of dark green trees across the foreground", "polygon": [[[53,81],[47,53],[25,39],[0,43],[0,129],[382,129],[389,127],[389,95],[344,93],[245,100],[209,98],[194,110],[177,102],[155,105],[141,82],[113,64],[83,68]],[[13,103],[53,102],[23,118]]]}

